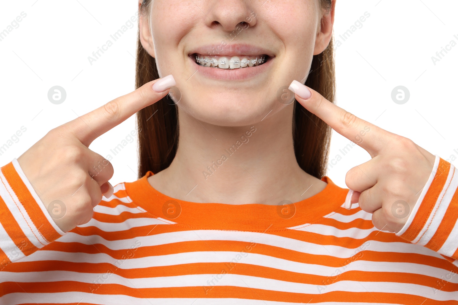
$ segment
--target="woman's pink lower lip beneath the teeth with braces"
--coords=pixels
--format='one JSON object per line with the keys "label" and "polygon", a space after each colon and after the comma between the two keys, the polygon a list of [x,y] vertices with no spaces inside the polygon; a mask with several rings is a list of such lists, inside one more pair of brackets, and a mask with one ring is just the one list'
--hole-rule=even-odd
{"label": "woman's pink lower lip beneath the teeth with braces", "polygon": [[189,59],[196,67],[197,72],[208,78],[216,80],[246,80],[256,75],[265,75],[266,70],[272,65],[274,57],[269,57],[264,64],[258,66],[237,69],[204,67],[197,64],[191,56],[189,56]]}

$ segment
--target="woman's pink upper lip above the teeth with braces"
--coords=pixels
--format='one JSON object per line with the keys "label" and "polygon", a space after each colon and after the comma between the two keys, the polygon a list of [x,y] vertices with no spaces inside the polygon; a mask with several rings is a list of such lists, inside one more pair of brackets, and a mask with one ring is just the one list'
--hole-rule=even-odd
{"label": "woman's pink upper lip above the teeth with braces", "polygon": [[234,43],[234,44],[224,44],[224,43],[214,43],[202,45],[200,47],[193,48],[189,55],[191,54],[201,54],[209,56],[232,56],[232,55],[245,55],[245,56],[256,56],[266,54],[270,57],[275,57],[271,50],[267,48],[262,48],[247,43]]}

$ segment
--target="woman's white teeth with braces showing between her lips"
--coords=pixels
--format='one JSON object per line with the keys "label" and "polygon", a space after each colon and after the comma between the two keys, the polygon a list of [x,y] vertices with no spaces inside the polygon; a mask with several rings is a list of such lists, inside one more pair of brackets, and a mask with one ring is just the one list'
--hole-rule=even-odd
{"label": "woman's white teeth with braces showing between her lips", "polygon": [[258,56],[207,56],[195,53],[191,57],[195,59],[196,64],[203,67],[229,70],[262,65],[269,59],[269,56],[266,54]]}

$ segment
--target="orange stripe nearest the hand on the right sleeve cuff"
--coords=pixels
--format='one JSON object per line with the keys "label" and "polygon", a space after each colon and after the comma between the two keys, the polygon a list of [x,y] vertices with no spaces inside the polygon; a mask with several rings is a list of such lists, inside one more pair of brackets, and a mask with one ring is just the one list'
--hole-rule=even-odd
{"label": "orange stripe nearest the hand on the right sleeve cuff", "polygon": [[439,198],[445,183],[447,182],[448,172],[450,171],[450,163],[440,158],[439,165],[437,167],[436,175],[431,182],[430,187],[426,191],[425,198],[423,198],[420,209],[417,210],[412,223],[407,230],[401,235],[402,238],[413,241],[418,233],[426,225],[434,205],[436,204],[437,198]]}

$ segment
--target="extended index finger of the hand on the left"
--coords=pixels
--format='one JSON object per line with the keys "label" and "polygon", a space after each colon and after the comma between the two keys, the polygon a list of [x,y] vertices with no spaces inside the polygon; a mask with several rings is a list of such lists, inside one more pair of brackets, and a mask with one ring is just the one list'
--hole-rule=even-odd
{"label": "extended index finger of the hand on the left", "polygon": [[152,80],[135,91],[115,98],[97,109],[88,112],[64,124],[70,132],[88,147],[93,140],[110,129],[124,122],[134,113],[154,104],[169,92],[174,86],[172,75]]}

